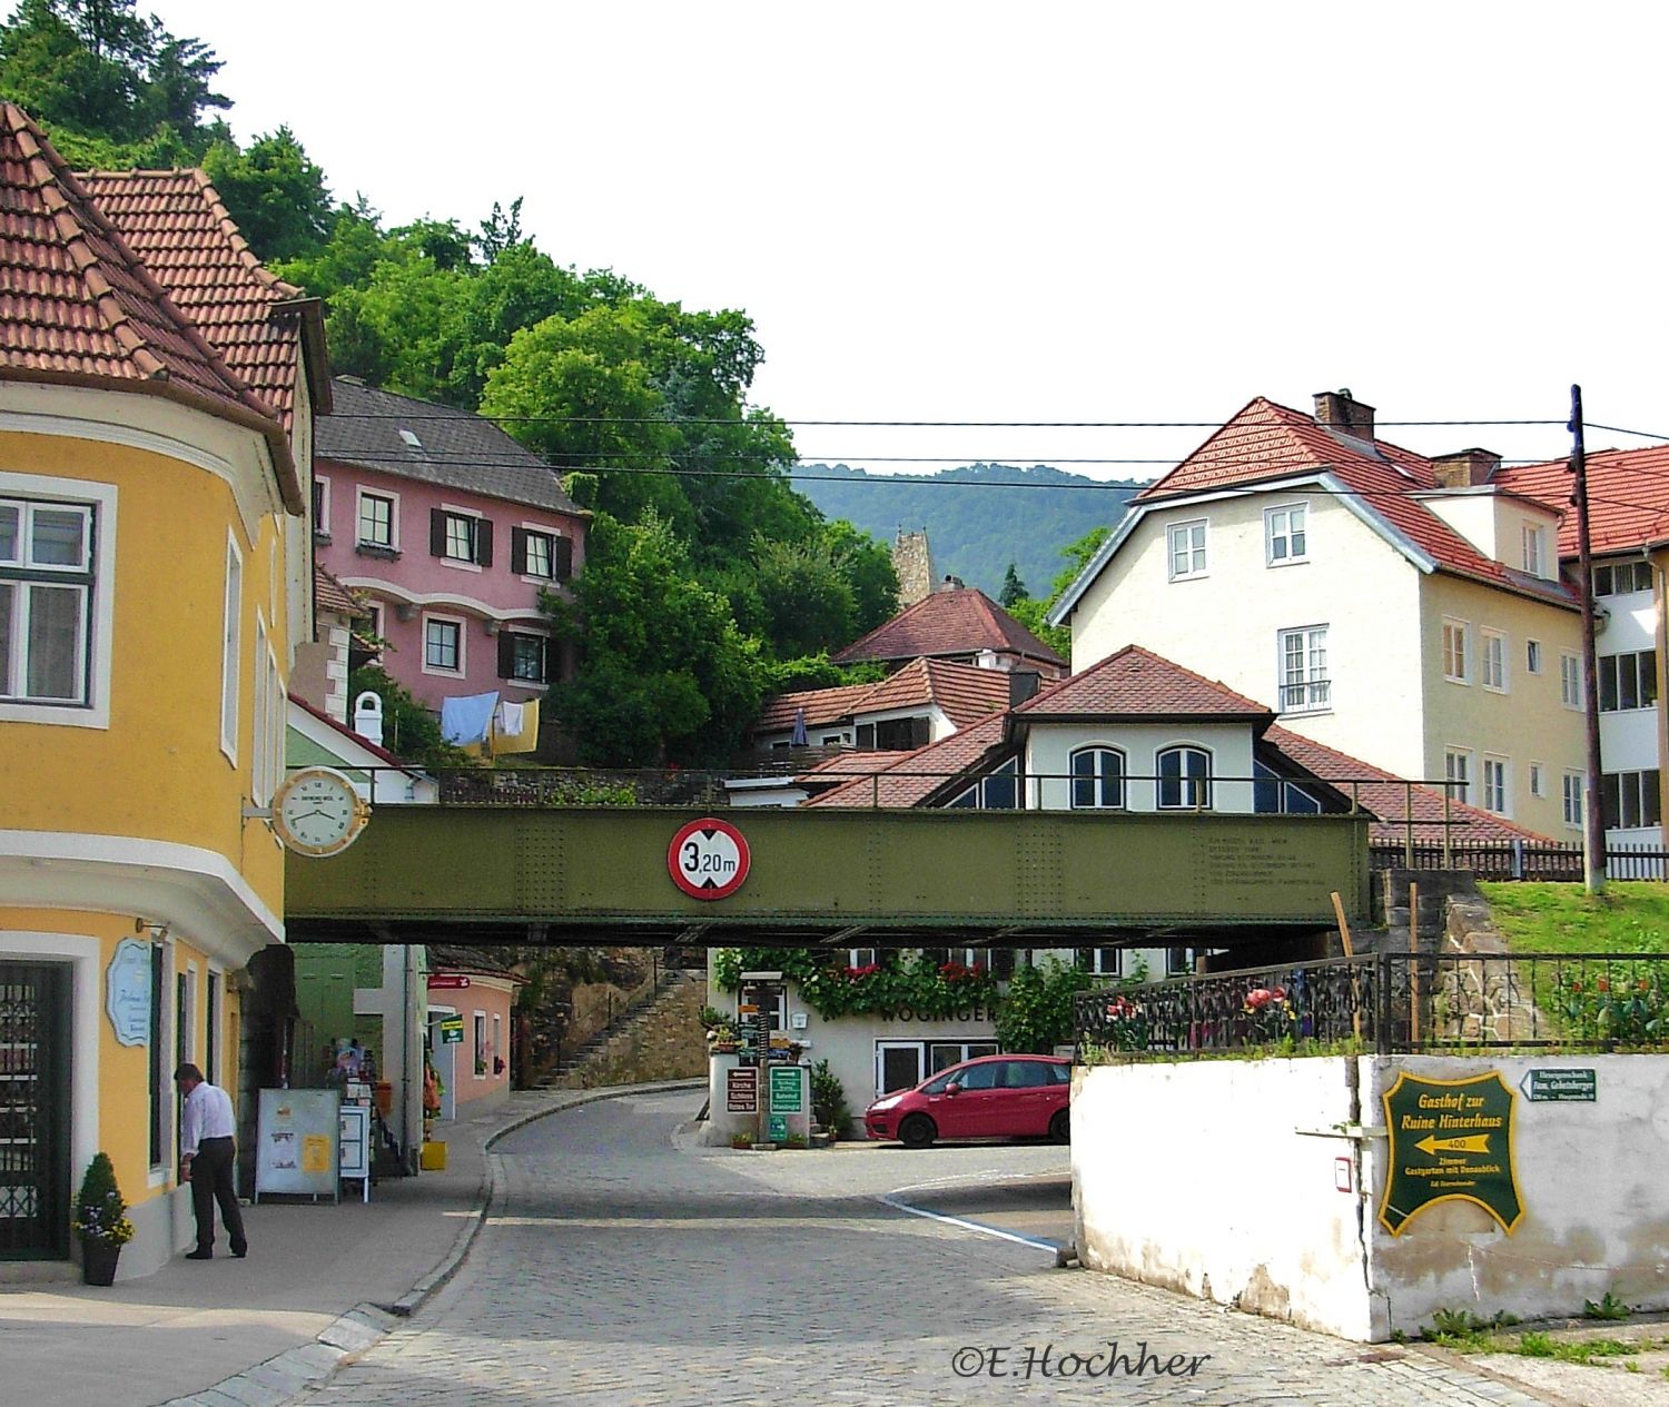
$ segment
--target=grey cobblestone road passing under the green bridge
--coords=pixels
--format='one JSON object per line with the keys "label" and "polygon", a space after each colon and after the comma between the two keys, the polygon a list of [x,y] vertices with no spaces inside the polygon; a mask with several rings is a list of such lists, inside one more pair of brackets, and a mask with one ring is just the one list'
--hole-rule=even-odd
{"label": "grey cobblestone road passing under the green bridge", "polygon": [[589,1105],[501,1143],[504,1197],[464,1268],[310,1407],[1539,1402],[880,1200],[1058,1177],[1061,1150],[674,1147],[689,1112],[688,1095]]}

